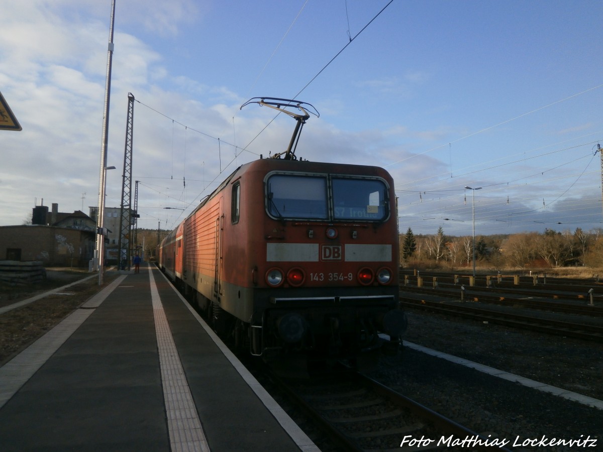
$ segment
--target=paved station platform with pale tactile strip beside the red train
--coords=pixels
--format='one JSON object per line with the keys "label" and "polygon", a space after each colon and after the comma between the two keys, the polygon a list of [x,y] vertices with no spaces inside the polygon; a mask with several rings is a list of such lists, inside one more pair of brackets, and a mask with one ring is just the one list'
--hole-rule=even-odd
{"label": "paved station platform with pale tactile strip beside the red train", "polygon": [[6,451],[318,451],[154,266],[0,368]]}

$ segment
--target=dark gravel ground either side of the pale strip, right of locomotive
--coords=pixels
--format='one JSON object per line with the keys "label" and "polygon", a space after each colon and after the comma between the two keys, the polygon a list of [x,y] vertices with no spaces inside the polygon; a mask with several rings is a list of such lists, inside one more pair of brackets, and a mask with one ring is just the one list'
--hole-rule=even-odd
{"label": "dark gravel ground either side of the pale strip, right of locomotive", "polygon": [[[558,388],[603,399],[603,345],[409,311],[405,340]],[[405,348],[371,377],[516,451],[603,450],[603,411]],[[532,446],[543,437],[596,447]],[[519,444],[519,446],[514,445]],[[549,443],[550,444],[550,443]],[[592,443],[589,443],[592,444]]]}

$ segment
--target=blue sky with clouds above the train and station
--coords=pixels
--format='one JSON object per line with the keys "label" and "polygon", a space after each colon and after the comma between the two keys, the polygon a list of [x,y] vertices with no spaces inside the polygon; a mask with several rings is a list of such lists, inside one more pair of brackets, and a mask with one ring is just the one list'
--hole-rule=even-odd
{"label": "blue sky with clouds above the train and station", "polygon": [[[42,198],[98,204],[110,8],[2,5],[0,92],[23,130],[0,131],[0,225]],[[602,19],[580,0],[116,0],[106,205],[121,201],[128,92],[148,228],[283,151],[294,121],[260,133],[273,111],[239,107],[297,95],[320,112],[297,154],[390,171],[402,233],[470,235],[465,186],[482,187],[478,235],[601,228]]]}

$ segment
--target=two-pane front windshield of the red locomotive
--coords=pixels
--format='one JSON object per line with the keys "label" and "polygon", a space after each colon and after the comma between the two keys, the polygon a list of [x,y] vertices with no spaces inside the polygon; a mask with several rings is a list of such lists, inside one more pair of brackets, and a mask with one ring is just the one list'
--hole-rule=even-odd
{"label": "two-pane front windshield of the red locomotive", "polygon": [[266,209],[273,218],[384,221],[388,187],[380,178],[272,174]]}

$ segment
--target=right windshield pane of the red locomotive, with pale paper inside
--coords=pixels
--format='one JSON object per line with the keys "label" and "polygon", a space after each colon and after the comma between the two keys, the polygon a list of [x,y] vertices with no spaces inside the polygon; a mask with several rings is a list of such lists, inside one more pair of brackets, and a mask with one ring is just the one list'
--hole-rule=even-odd
{"label": "right windshield pane of the red locomotive, with pale paper inside", "polygon": [[387,186],[376,179],[333,177],[333,218],[383,221],[387,210]]}

